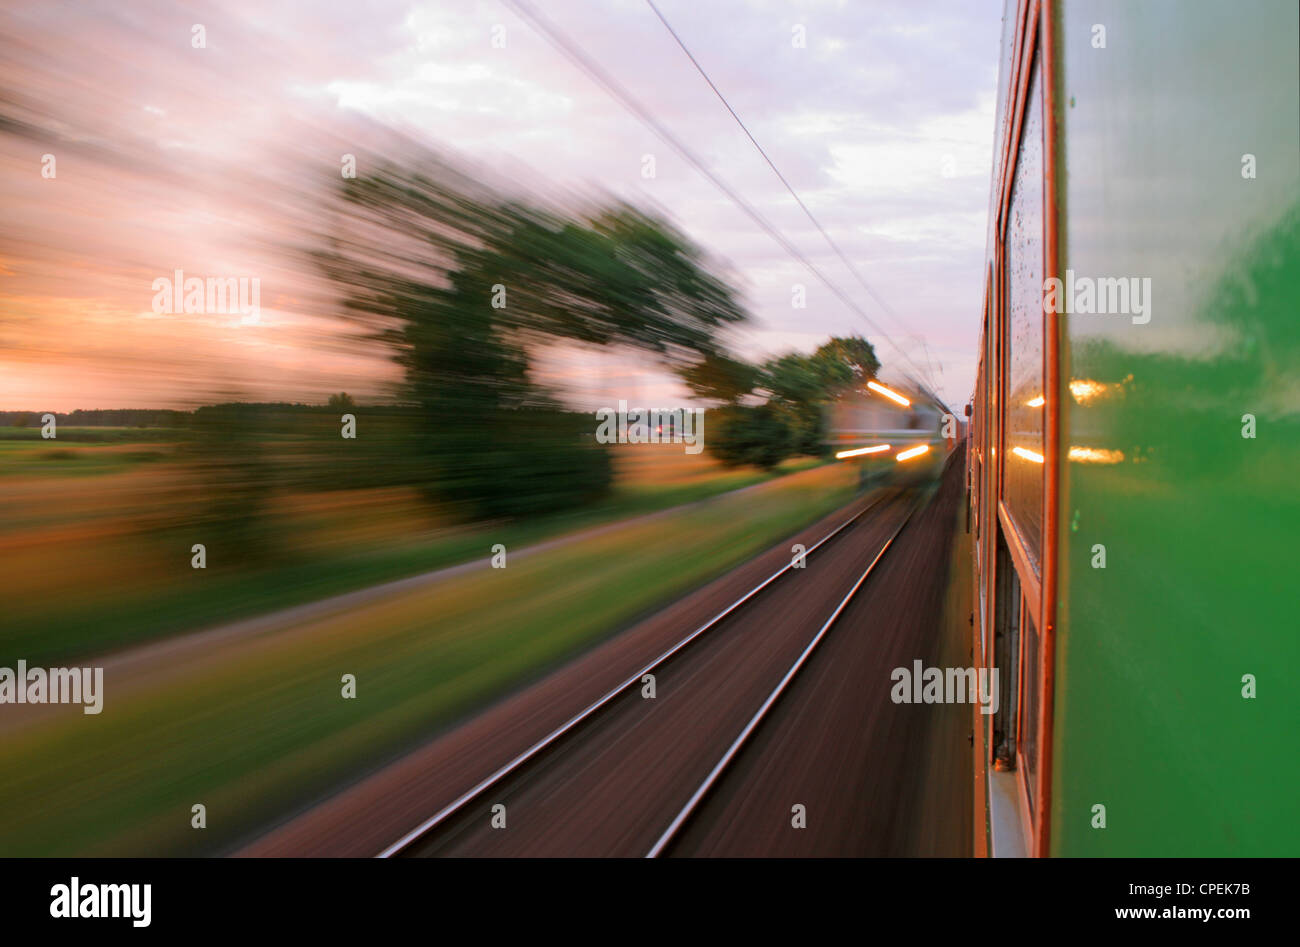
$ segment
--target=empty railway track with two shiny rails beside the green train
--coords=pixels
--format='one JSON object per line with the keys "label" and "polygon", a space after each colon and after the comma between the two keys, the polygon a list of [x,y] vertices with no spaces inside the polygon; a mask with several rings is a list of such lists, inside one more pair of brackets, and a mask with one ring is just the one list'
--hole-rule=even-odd
{"label": "empty railway track with two shiny rails beside the green train", "polygon": [[848,516],[803,568],[774,571],[378,857],[666,853],[914,511],[890,493]]}

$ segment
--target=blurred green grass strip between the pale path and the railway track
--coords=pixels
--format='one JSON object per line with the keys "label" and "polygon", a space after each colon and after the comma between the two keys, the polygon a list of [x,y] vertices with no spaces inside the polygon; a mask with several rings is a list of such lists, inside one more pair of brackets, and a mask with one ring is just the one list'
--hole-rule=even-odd
{"label": "blurred green grass strip between the pale path and the railway track", "polygon": [[[225,851],[837,509],[854,487],[848,466],[807,470],[218,645],[131,686],[109,678],[100,715],[53,708],[4,732],[0,851]],[[343,674],[356,675],[356,700],[341,697]],[[204,830],[190,827],[195,803]]]}

